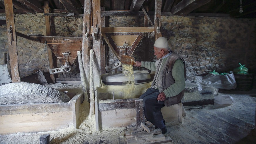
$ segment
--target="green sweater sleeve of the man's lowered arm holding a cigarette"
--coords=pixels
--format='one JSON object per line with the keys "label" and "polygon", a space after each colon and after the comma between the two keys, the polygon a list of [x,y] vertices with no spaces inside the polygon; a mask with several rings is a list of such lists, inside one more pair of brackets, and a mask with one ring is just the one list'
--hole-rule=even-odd
{"label": "green sweater sleeve of the man's lowered arm holding a cigarette", "polygon": [[185,78],[184,78],[184,63],[181,59],[175,61],[172,68],[172,77],[175,82],[163,92],[166,97],[173,97],[178,95],[185,88]]}

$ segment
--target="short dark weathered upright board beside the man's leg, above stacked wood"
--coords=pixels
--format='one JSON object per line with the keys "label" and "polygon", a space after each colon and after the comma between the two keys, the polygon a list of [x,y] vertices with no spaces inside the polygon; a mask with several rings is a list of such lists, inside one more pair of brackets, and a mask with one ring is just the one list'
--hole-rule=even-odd
{"label": "short dark weathered upright board beside the man's leg, above stacked wood", "polygon": [[135,107],[136,107],[136,127],[138,129],[141,127],[141,123],[145,124],[143,99],[135,100]]}

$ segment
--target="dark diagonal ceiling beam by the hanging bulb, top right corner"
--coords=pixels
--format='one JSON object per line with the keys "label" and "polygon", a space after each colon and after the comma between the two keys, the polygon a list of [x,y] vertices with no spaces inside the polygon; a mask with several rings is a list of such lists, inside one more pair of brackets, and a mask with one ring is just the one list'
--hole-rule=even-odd
{"label": "dark diagonal ceiling beam by the hanging bulb, top right corner", "polygon": [[256,12],[256,2],[243,6],[243,13],[239,13],[239,9],[240,7],[228,12],[230,14],[230,17],[238,18]]}

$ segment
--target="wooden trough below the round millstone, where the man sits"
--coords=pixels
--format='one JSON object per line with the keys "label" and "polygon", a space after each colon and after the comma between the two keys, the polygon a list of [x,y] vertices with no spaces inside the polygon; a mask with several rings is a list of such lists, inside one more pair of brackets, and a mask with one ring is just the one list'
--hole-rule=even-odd
{"label": "wooden trough below the round millstone, where the man sits", "polygon": [[[96,128],[102,129],[109,127],[126,127],[134,122],[136,117],[135,100],[138,99],[120,99],[120,100],[98,100],[95,103]],[[182,122],[182,103],[163,107],[161,109],[163,117],[170,125],[177,125]],[[98,121],[97,121],[98,120]]]}

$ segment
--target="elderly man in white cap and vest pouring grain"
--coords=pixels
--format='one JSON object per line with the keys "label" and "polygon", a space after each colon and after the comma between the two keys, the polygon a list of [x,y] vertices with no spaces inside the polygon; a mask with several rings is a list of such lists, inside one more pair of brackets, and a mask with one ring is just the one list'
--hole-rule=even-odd
{"label": "elderly man in white cap and vest pouring grain", "polygon": [[184,59],[169,51],[169,44],[165,37],[159,37],[154,44],[156,62],[136,61],[134,66],[142,66],[155,71],[151,88],[140,96],[143,99],[144,113],[148,121],[162,133],[167,132],[161,108],[171,106],[181,101],[184,96],[186,68]]}

